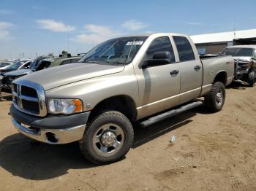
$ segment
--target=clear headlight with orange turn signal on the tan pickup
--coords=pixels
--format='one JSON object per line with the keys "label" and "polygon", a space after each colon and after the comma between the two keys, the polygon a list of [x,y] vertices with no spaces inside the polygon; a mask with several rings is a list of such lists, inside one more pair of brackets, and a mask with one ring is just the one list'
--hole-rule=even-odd
{"label": "clear headlight with orange turn signal on the tan pickup", "polygon": [[48,112],[51,114],[74,114],[83,112],[83,103],[80,99],[48,98]]}

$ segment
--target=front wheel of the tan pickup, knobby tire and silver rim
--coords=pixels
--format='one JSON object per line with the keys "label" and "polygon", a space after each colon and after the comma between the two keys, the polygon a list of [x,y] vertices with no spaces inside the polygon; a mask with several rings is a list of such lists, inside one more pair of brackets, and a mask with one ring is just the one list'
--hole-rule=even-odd
{"label": "front wheel of the tan pickup, knobby tire and silver rim", "polygon": [[102,165],[124,157],[132,147],[131,122],[116,111],[100,112],[87,125],[80,149],[89,162]]}

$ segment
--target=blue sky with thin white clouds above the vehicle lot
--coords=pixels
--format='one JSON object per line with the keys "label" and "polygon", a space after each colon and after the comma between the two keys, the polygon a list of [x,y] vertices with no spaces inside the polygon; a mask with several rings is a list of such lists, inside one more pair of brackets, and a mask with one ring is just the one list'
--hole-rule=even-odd
{"label": "blue sky with thin white clouds above the vehicle lot", "polygon": [[[256,28],[256,1],[0,1],[0,58],[87,52],[123,34]],[[69,36],[69,41],[67,40]],[[69,42],[69,43],[68,43]],[[68,46],[69,44],[69,46]]]}

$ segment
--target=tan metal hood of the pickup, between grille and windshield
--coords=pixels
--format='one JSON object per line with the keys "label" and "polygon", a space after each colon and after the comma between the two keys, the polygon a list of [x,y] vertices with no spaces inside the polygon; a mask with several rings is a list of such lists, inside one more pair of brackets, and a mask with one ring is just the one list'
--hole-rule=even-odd
{"label": "tan metal hood of the pickup, between grille and windshield", "polygon": [[114,74],[123,70],[124,66],[110,66],[97,63],[69,63],[67,65],[33,72],[19,79],[36,82],[39,85],[42,85],[44,90],[50,90],[61,85]]}

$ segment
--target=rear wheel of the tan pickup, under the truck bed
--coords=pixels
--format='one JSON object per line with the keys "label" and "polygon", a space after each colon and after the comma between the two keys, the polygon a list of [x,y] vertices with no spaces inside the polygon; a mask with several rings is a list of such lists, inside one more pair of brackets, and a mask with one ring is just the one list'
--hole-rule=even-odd
{"label": "rear wheel of the tan pickup, under the truck bed", "polygon": [[215,82],[210,93],[205,96],[205,105],[211,112],[219,112],[225,103],[225,85],[222,82]]}

